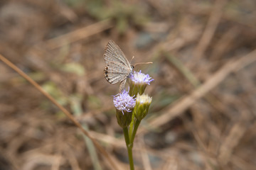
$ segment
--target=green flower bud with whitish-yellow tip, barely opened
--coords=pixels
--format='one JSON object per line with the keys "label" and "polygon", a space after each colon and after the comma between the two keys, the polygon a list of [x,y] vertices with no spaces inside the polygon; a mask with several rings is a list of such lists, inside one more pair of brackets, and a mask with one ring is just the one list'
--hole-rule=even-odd
{"label": "green flower bud with whitish-yellow tip, barely opened", "polygon": [[137,120],[142,120],[146,117],[149,111],[149,106],[151,104],[152,98],[146,94],[137,94],[136,104],[134,107],[134,115]]}

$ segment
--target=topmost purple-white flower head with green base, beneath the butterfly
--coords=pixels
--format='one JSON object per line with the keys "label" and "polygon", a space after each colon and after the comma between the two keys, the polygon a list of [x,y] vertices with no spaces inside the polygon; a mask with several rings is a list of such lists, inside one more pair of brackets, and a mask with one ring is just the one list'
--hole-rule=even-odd
{"label": "topmost purple-white flower head with green base, beneath the butterfly", "polygon": [[142,95],[146,89],[147,85],[153,81],[149,74],[143,74],[142,70],[139,72],[133,72],[129,77],[130,90],[129,95],[137,95],[138,93]]}

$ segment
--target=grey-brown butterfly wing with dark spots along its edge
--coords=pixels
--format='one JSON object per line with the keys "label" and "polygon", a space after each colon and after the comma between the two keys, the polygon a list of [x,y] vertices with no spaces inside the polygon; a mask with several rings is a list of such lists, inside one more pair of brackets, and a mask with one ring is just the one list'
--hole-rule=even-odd
{"label": "grey-brown butterfly wing with dark spots along its edge", "polygon": [[105,59],[105,78],[110,84],[116,84],[126,79],[132,72],[132,67],[125,57],[122,50],[110,40],[107,43],[104,53]]}

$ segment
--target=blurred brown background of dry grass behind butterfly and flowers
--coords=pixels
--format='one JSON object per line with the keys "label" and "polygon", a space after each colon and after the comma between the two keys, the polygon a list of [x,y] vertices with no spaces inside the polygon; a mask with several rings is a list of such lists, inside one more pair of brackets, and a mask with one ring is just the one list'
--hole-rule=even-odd
{"label": "blurred brown background of dry grass behind butterfly and flowers", "polygon": [[[256,169],[256,1],[1,0],[0,54],[129,169],[103,76],[108,40],[154,78],[136,169]],[[112,169],[82,132],[0,62],[0,169]]]}

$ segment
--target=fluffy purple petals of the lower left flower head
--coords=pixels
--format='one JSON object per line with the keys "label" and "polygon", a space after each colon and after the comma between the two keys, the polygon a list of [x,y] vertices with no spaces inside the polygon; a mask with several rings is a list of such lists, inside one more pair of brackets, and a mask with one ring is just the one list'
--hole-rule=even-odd
{"label": "fluffy purple petals of the lower left flower head", "polygon": [[133,97],[134,96],[129,96],[128,91],[122,91],[121,94],[114,96],[114,107],[117,110],[122,111],[123,115],[124,112],[132,112],[136,103],[136,98]]}

